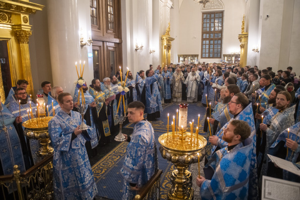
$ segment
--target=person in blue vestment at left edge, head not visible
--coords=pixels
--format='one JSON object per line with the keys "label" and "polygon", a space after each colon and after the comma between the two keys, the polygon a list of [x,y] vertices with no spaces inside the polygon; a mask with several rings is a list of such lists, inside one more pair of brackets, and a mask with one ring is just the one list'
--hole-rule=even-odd
{"label": "person in blue vestment at left edge, head not visible", "polygon": [[0,103],[0,175],[13,174],[14,165],[22,173],[33,164],[20,123],[22,117],[14,116]]}

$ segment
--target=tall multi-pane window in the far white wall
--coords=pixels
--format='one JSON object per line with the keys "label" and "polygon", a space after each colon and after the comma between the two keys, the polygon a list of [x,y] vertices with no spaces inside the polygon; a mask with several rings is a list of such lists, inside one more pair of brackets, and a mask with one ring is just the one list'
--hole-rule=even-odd
{"label": "tall multi-pane window in the far white wall", "polygon": [[221,58],[223,12],[202,14],[201,58]]}

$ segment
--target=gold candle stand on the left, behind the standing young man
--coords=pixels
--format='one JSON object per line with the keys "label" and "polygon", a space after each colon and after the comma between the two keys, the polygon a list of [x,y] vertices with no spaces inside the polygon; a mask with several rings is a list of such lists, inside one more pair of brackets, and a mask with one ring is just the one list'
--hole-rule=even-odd
{"label": "gold candle stand on the left, behind the standing young man", "polygon": [[48,132],[48,122],[52,119],[51,116],[39,115],[37,118],[29,119],[22,125],[25,127],[25,134],[28,139],[38,140],[41,147],[37,155],[44,157],[53,152],[53,148],[49,146],[50,137]]}

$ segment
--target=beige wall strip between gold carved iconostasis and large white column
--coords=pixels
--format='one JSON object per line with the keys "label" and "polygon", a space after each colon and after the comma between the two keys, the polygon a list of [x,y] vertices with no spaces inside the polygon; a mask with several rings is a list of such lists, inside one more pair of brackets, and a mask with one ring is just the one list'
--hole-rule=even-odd
{"label": "beige wall strip between gold carved iconostasis and large white column", "polygon": [[[44,6],[46,4],[43,0],[30,2]],[[42,11],[36,12],[35,15],[30,15],[29,21],[33,25],[31,27],[32,35],[29,38],[29,53],[34,94],[36,94],[41,89],[43,81],[53,83],[46,7]]]}

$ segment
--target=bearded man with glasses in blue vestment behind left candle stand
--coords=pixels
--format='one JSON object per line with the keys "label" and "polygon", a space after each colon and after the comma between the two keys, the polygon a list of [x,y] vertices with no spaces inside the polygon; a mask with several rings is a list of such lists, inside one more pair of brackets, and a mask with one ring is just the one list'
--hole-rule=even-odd
{"label": "bearded man with glasses in blue vestment behind left candle stand", "polygon": [[[23,88],[17,88],[15,90],[15,98],[17,101],[11,101],[9,105],[9,110],[13,113],[14,116],[21,116],[23,122],[27,121],[29,119],[27,110],[30,110],[31,107],[33,117],[35,117],[36,105],[32,102],[28,102],[27,92]],[[24,126],[22,127],[23,129],[25,129]],[[39,149],[39,142],[38,140],[30,139],[29,143],[33,162],[34,164],[36,164],[40,160],[40,158],[36,155]]]}

